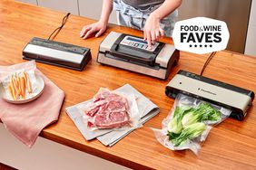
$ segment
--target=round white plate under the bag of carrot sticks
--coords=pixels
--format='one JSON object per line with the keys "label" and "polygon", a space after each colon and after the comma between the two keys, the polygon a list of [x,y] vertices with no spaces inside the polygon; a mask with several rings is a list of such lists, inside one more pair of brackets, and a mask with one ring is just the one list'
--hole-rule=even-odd
{"label": "round white plate under the bag of carrot sticks", "polygon": [[0,84],[0,97],[3,98],[5,101],[13,104],[24,104],[39,98],[44,91],[44,79],[41,76],[36,74],[35,74],[35,79],[36,79],[35,84],[36,84],[37,90],[32,97],[28,97],[27,99],[17,99],[17,100],[9,99],[2,83]]}

